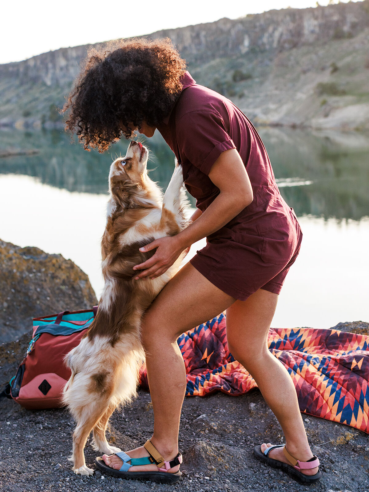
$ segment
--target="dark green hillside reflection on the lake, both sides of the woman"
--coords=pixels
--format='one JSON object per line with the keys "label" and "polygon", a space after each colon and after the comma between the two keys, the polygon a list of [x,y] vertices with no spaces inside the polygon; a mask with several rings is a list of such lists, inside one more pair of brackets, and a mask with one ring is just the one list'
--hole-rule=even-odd
{"label": "dark green hillside reflection on the lake, both sides of the woman", "polygon": [[[297,215],[352,218],[369,214],[369,136],[261,128],[280,190]],[[150,176],[165,188],[174,156],[159,134],[147,141],[153,154]],[[106,154],[71,145],[60,131],[1,131],[0,149],[39,149],[37,155],[0,158],[0,174],[29,175],[69,191],[106,193],[112,159],[125,154],[127,141]],[[192,204],[194,202],[192,201]]]}

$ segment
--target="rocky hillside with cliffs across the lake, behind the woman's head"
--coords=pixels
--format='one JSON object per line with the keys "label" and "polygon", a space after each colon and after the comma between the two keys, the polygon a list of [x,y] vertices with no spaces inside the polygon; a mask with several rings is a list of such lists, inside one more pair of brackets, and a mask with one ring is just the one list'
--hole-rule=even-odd
{"label": "rocky hillside with cliffs across the lake, behind the woman's head", "polygon": [[[255,123],[369,128],[369,0],[157,31]],[[0,65],[0,125],[60,122],[87,46]]]}

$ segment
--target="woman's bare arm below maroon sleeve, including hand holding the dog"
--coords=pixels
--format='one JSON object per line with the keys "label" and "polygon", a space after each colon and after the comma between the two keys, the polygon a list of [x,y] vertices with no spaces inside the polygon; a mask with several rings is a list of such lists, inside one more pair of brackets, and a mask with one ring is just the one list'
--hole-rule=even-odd
{"label": "woman's bare arm below maroon sleeve, including hand holding the dog", "polygon": [[156,239],[140,248],[140,251],[156,248],[156,252],[144,263],[133,267],[133,270],[144,269],[135,278],[159,277],[173,265],[186,247],[219,230],[252,202],[250,180],[236,149],[229,149],[219,155],[209,178],[220,191],[215,200],[176,236]]}

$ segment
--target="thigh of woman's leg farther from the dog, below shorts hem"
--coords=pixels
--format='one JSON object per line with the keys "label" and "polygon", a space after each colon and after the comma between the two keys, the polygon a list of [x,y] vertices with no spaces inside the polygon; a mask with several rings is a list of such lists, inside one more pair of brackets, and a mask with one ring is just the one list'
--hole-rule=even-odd
{"label": "thigh of woman's leg farther from the dog, below shorts hem", "polygon": [[277,301],[277,294],[259,289],[246,301],[236,301],[227,308],[229,349],[242,364],[253,365],[268,353],[268,332]]}

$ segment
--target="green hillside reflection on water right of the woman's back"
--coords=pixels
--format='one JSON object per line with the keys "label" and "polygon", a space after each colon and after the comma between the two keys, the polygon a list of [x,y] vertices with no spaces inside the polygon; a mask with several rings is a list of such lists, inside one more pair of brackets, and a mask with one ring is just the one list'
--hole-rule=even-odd
{"label": "green hillside reflection on water right of the woman's back", "polygon": [[[368,135],[279,128],[262,128],[260,134],[280,191],[297,215],[355,220],[369,215]],[[310,184],[283,186],[291,177]]]}

